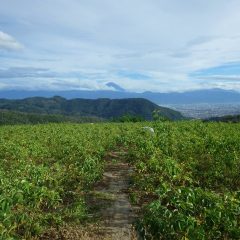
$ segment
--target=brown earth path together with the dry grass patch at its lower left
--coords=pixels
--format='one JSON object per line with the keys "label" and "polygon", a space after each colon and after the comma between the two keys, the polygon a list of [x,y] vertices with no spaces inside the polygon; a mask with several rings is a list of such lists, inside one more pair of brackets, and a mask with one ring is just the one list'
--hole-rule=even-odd
{"label": "brown earth path together with the dry grass patch at its lower left", "polygon": [[106,156],[103,178],[86,197],[94,224],[84,229],[67,227],[48,232],[54,240],[137,240],[134,229],[136,209],[131,206],[128,189],[133,169],[125,160],[126,152],[110,152]]}

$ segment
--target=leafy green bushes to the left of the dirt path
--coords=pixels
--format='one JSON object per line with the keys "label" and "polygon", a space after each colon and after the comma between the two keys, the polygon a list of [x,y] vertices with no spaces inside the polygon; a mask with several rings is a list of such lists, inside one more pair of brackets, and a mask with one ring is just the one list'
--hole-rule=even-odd
{"label": "leafy green bushes to the left of the dirt path", "polygon": [[0,239],[31,239],[86,217],[118,128],[49,124],[0,128]]}

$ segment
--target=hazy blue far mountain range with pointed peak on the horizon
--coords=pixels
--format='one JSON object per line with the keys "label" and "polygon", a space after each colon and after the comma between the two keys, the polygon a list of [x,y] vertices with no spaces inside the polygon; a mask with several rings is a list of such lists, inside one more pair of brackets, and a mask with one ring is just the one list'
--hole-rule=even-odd
{"label": "hazy blue far mountain range with pointed peak on the horizon", "polygon": [[124,99],[124,98],[145,98],[156,104],[198,104],[198,103],[234,103],[240,102],[240,93],[232,90],[208,89],[195,90],[188,92],[127,92],[119,85],[109,82],[107,86],[114,90],[72,90],[72,91],[24,91],[24,90],[1,90],[0,98],[6,99],[23,99],[28,97],[53,97],[61,96],[66,99],[83,98],[83,99]]}

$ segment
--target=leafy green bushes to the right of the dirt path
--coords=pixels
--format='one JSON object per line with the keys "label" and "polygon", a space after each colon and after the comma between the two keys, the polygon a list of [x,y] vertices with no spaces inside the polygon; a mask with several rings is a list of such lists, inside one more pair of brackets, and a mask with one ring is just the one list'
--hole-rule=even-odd
{"label": "leafy green bushes to the right of the dirt path", "polygon": [[[240,238],[240,125],[154,124],[123,140],[146,239]],[[140,130],[139,130],[140,131]]]}

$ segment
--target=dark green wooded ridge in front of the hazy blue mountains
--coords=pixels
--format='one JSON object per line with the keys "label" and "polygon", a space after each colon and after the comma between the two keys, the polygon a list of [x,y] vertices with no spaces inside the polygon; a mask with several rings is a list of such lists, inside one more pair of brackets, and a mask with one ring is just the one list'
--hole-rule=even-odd
{"label": "dark green wooded ridge in front of the hazy blue mountains", "polygon": [[33,97],[22,100],[0,99],[0,109],[37,114],[57,114],[72,117],[97,117],[114,119],[124,115],[152,119],[154,110],[172,120],[184,119],[181,113],[169,108],[160,107],[142,98],[131,99],[70,99],[63,97]]}

